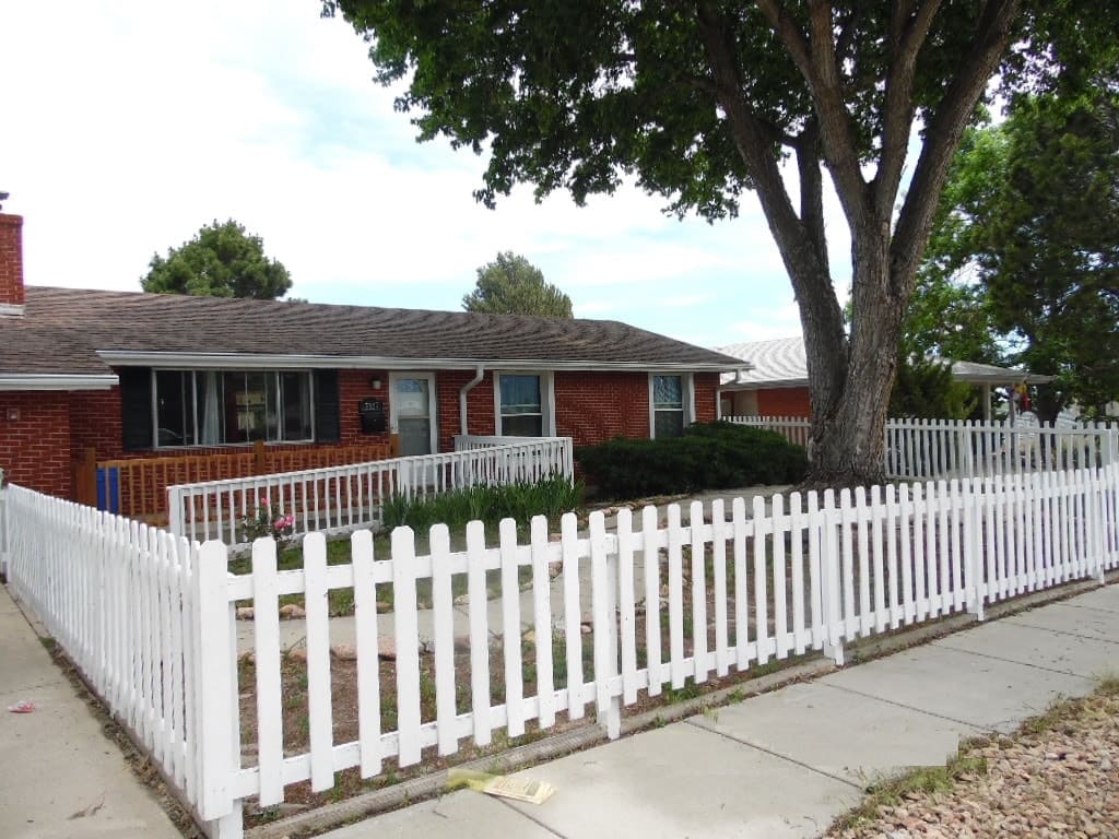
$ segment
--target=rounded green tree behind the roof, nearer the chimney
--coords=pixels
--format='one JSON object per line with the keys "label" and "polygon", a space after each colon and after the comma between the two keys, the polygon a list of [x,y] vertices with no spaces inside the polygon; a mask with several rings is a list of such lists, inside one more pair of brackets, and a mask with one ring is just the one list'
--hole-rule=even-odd
{"label": "rounded green tree behind the roof, nearer the chimney", "polygon": [[140,287],[159,294],[275,300],[291,289],[288,268],[264,255],[260,236],[233,219],[214,220],[167,256],[154,254]]}

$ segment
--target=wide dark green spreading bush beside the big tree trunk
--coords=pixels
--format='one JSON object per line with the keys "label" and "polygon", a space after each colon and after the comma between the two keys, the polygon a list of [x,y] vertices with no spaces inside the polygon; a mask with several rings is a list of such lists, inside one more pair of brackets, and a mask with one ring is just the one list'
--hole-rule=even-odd
{"label": "wide dark green spreading bush beside the big tree trunk", "polygon": [[808,468],[803,447],[777,432],[725,422],[693,425],[666,440],[617,437],[575,456],[606,498],[796,483]]}

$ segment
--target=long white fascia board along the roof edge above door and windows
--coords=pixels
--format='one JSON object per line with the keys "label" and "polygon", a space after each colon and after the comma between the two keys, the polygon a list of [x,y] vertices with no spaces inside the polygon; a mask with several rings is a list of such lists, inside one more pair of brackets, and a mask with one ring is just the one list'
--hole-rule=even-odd
{"label": "long white fascia board along the roof edge above door and windows", "polygon": [[476,358],[388,358],[384,356],[258,355],[239,352],[134,352],[100,350],[97,357],[113,367],[178,367],[190,369],[391,369],[391,370],[640,370],[728,373],[742,367],[721,364],[651,361],[479,360]]}

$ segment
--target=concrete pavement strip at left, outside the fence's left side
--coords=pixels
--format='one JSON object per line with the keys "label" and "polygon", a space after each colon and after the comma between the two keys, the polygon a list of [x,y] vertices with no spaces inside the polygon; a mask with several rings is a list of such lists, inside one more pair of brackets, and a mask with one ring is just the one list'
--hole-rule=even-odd
{"label": "concrete pavement strip at left, outside the fence's left side", "polygon": [[[21,700],[31,714],[12,714]],[[0,586],[0,837],[182,839]]]}

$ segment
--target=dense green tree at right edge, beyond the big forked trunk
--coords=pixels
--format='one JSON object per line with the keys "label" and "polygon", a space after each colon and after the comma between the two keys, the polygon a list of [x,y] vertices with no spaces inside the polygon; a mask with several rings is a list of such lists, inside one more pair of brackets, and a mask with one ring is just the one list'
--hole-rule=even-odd
{"label": "dense green tree at right edge, beyond the big forked trunk", "polygon": [[1005,122],[968,133],[906,322],[920,341],[939,319],[942,346],[986,342],[1054,376],[1043,418],[1073,402],[1099,416],[1119,398],[1117,91],[1101,78],[1079,96],[1021,96]]}

